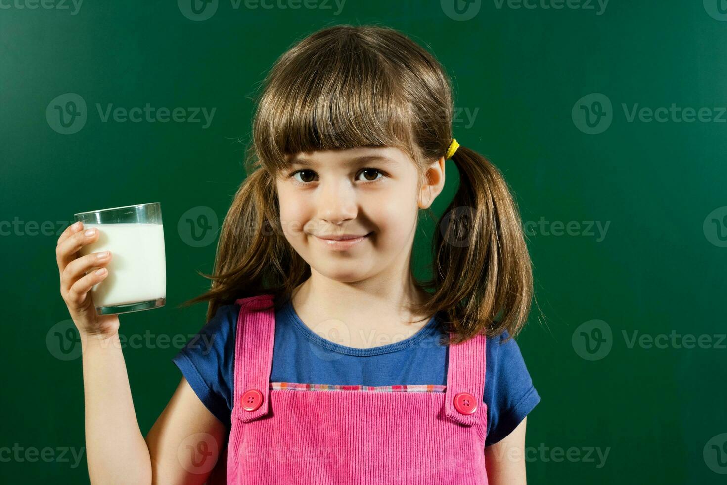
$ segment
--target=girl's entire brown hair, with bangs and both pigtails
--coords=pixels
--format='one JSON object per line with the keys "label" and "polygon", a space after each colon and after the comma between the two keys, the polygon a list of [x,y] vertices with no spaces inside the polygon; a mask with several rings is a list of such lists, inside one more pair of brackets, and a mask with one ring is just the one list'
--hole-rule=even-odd
{"label": "girl's entire brown hair, with bangs and both pigtails", "polygon": [[[222,223],[207,318],[238,298],[276,302],[310,276],[281,229],[275,174],[290,155],[393,146],[427,167],[452,139],[451,82],[425,49],[380,25],[335,25],[298,41],[273,65],[257,97],[248,176]],[[421,315],[441,315],[454,345],[476,334],[518,334],[533,296],[531,262],[518,208],[496,167],[460,146],[459,188],[433,241],[433,278]],[[419,185],[421,186],[421,185]],[[430,209],[427,213],[432,215]],[[413,277],[413,276],[412,276]]]}

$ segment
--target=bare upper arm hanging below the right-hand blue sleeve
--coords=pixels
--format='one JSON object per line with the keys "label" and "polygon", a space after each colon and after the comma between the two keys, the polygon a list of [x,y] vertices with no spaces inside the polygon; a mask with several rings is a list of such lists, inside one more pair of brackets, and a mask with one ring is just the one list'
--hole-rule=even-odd
{"label": "bare upper arm hanging below the right-hand blue sleeve", "polygon": [[525,417],[521,423],[497,443],[485,448],[485,464],[489,485],[526,485]]}

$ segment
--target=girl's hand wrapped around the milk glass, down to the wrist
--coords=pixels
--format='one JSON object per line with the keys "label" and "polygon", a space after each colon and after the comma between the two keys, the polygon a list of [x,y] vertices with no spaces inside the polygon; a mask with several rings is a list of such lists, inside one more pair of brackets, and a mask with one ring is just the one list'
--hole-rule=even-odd
{"label": "girl's hand wrapped around the milk glass, down to the wrist", "polygon": [[[81,222],[69,225],[58,238],[55,248],[55,259],[60,272],[60,295],[71,313],[73,323],[79,329],[81,337],[98,336],[111,337],[119,331],[118,315],[98,315],[89,290],[99,281],[108,276],[105,268],[111,261],[111,252],[92,253],[79,257],[81,246],[95,242],[99,237],[97,228],[92,228],[92,234],[87,235]],[[96,270],[84,274],[92,268],[101,268],[102,273]]]}

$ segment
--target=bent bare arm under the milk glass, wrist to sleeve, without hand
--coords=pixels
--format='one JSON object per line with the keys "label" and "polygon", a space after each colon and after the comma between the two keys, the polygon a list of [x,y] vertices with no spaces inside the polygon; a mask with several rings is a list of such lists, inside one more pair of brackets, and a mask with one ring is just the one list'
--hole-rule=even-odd
{"label": "bent bare arm under the milk glass, wrist to sleeve, without hand", "polygon": [[119,345],[87,338],[83,351],[86,444],[92,484],[203,484],[217,462],[225,425],[182,377],[143,438]]}

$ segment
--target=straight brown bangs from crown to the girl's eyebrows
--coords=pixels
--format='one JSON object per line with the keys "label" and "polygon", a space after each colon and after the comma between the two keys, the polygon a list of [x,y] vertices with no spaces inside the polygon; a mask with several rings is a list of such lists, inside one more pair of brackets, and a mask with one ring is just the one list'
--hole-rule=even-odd
{"label": "straight brown bangs from crown to the girl's eyebrows", "polygon": [[257,155],[273,171],[297,153],[393,146],[417,157],[413,103],[374,49],[310,49],[282,58],[256,116]]}

